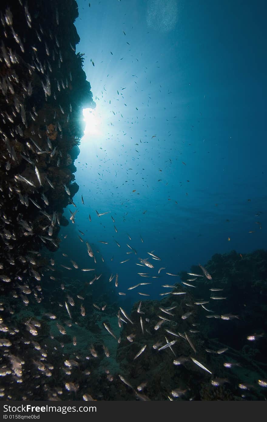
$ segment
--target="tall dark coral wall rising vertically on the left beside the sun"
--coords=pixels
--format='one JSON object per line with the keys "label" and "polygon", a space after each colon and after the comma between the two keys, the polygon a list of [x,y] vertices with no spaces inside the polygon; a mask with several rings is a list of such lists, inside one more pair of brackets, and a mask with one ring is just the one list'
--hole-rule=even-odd
{"label": "tall dark coral wall rising vertically on the left beside the sun", "polygon": [[78,190],[82,109],[94,102],[75,52],[77,3],[3,0],[0,8],[1,273],[38,280],[43,262],[29,251],[59,246],[63,208]]}

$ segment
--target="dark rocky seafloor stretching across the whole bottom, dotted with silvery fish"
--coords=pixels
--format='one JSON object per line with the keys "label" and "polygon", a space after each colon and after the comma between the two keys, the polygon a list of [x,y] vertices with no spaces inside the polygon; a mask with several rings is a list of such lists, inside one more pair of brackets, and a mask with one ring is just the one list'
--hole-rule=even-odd
{"label": "dark rocky seafloor stretching across the whole bottom, dotted with silvery fish", "polygon": [[[103,296],[104,282],[98,308],[92,292],[86,293],[86,286],[67,276],[62,290],[53,289],[44,275],[40,282],[43,301],[38,305],[32,295],[24,307],[9,295],[2,309],[3,327],[5,323],[9,327],[4,336],[12,343],[1,348],[3,399],[266,400],[266,321],[262,316],[266,313],[267,252],[258,250],[242,258],[234,251],[215,254],[205,268],[212,280],[202,277],[194,281],[195,287],[187,286],[183,283],[191,284],[188,274],[181,272],[174,291],[186,294],[135,303],[127,317],[120,314],[121,328],[119,305]],[[198,269],[193,265],[190,271],[199,273]],[[211,286],[223,289],[227,300],[210,300]],[[71,320],[64,306],[58,310],[66,292],[73,298],[76,293],[84,295],[86,317],[79,306],[70,306]],[[55,309],[57,319],[53,320]],[[36,337],[25,330],[29,320],[38,331]],[[65,335],[59,332],[57,321]],[[103,330],[103,323],[113,335]],[[159,350],[173,340],[172,349]],[[144,345],[146,349],[137,357]],[[21,376],[14,357],[22,362]]]}

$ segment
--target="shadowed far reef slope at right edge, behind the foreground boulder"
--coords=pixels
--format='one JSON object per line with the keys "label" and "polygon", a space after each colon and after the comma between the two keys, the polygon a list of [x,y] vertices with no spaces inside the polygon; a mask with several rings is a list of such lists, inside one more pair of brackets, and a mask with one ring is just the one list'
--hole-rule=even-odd
{"label": "shadowed far reef slope at right edge, behind the foreground boulder", "polygon": [[[238,318],[213,319],[210,324],[210,320],[202,314],[203,330],[210,337],[241,350],[247,335],[267,332],[267,321],[262,318],[267,310],[267,252],[260,249],[241,255],[235,251],[215,254],[208,261],[207,269],[212,273],[212,280],[197,279],[194,283],[197,286],[195,295],[207,300],[213,295],[226,297],[226,300],[210,300],[209,306],[216,314],[232,314]],[[199,273],[199,267],[193,266],[192,272]],[[186,278],[186,273],[181,273],[181,279],[185,281]],[[213,287],[223,290],[210,294],[209,289]],[[229,325],[235,332],[232,337],[229,337]],[[260,342],[265,343],[264,337]],[[257,358],[267,362],[265,353],[259,352]]]}

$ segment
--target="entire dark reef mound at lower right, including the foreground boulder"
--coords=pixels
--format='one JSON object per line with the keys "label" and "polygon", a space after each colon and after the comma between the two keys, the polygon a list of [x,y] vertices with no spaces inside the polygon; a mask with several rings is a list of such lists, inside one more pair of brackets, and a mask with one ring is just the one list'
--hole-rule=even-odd
{"label": "entire dark reef mound at lower right, including the foreground boulder", "polygon": [[[179,387],[184,394],[178,400],[264,400],[264,389],[258,385],[258,379],[266,379],[266,321],[261,317],[266,313],[267,252],[255,251],[251,254],[215,254],[205,265],[212,274],[212,280],[199,277],[188,287],[186,297],[171,295],[161,301],[145,300],[138,314],[136,303],[130,318],[134,325],[127,322],[121,333],[121,344],[117,352],[121,373],[130,380],[133,387],[148,381],[144,394],[153,400],[166,400],[170,391]],[[191,267],[192,273],[202,274],[198,265]],[[181,280],[188,279],[186,272],[181,272]],[[186,288],[177,285],[179,290]],[[219,292],[210,292],[210,288],[222,288]],[[210,300],[210,296],[227,297],[227,300]],[[205,304],[213,312],[205,311],[196,301],[209,301]],[[247,306],[246,306],[247,305]],[[160,313],[159,307],[171,308],[176,317]],[[186,319],[181,315],[191,311]],[[218,314],[218,318],[207,318]],[[162,315],[169,322],[164,322],[159,330],[154,326]],[[229,315],[229,319],[222,319]],[[140,326],[143,318],[144,334]],[[178,316],[178,317],[177,317]],[[146,320],[146,318],[148,318]],[[166,332],[171,330],[178,335],[185,332],[191,339],[197,353],[183,337],[176,337]],[[247,336],[262,333],[257,341],[248,341]],[[129,343],[128,335],[135,335]],[[175,359],[170,349],[158,352],[153,349],[157,343],[166,344],[177,340],[173,346],[176,359],[186,358],[181,365],[173,365]],[[145,352],[133,360],[135,354],[146,344]],[[158,346],[159,347],[159,346]],[[216,350],[227,349],[216,354]],[[206,349],[210,350],[207,352]],[[191,360],[196,358],[212,375],[199,368]],[[233,368],[224,367],[224,362],[233,362]],[[212,379],[219,379],[221,385],[211,384]],[[245,385],[244,390],[242,384]],[[126,400],[133,400],[134,394],[127,386],[122,386]]]}

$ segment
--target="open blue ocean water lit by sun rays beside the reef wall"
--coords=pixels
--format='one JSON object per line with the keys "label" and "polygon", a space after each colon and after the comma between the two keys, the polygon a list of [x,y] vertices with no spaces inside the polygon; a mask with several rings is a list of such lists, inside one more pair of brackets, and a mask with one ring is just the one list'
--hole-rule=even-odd
{"label": "open blue ocean water lit by sun rays beside the reef wall", "polygon": [[[78,1],[76,51],[96,108],[75,162],[76,224],[62,236],[69,233],[73,259],[86,262],[83,231],[123,292],[147,252],[162,259],[150,260],[162,263],[155,275],[160,266],[178,274],[215,253],[266,246],[261,6]],[[150,299],[170,282],[163,273],[143,286]],[[138,298],[132,290],[120,300]]]}

